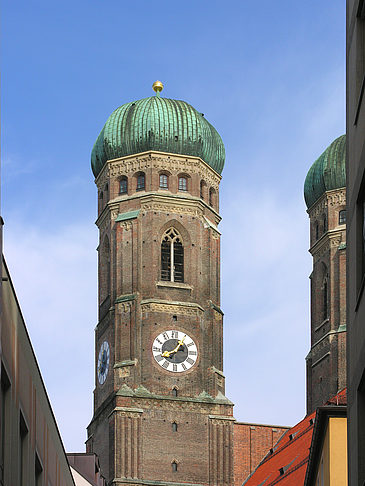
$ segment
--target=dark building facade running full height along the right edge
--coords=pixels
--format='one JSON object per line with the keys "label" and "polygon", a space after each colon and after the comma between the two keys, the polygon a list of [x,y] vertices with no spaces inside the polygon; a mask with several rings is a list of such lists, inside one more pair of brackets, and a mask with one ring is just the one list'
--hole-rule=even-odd
{"label": "dark building facade running full height along the right edge", "polygon": [[346,6],[348,454],[357,486],[365,482],[365,2]]}

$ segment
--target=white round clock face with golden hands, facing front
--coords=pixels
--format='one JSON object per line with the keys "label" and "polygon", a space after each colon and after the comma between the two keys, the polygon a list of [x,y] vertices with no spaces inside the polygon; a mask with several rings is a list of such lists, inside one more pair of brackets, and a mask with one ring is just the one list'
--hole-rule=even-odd
{"label": "white round clock face with golden hands, facing front", "polygon": [[183,373],[195,365],[198,348],[185,332],[168,330],[159,334],[152,344],[152,354],[162,368]]}

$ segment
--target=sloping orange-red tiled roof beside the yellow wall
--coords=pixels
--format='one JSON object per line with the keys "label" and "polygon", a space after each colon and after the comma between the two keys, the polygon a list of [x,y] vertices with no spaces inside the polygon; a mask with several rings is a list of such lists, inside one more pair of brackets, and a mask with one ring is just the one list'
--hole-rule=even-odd
{"label": "sloping orange-red tiled roof beside the yellow wall", "polygon": [[[346,388],[326,405],[346,405]],[[289,429],[270,449],[244,486],[303,485],[308,466],[316,412]]]}

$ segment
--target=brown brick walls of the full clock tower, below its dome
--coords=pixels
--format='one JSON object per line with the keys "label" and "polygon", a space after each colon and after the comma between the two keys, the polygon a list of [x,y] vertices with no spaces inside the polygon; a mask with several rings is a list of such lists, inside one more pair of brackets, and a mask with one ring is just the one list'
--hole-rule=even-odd
{"label": "brown brick walls of the full clock tower, below its dome", "polygon": [[[162,170],[168,190],[159,188]],[[137,191],[140,171],[146,185]],[[179,174],[188,178],[186,192],[178,190]],[[127,194],[119,194],[121,177],[128,178]],[[232,486],[234,419],[224,399],[219,309],[220,176],[200,159],[152,153],[107,163],[96,182],[95,353],[97,360],[107,341],[110,366],[105,383],[96,378],[88,450],[99,455],[106,479],[118,484],[138,479]],[[116,221],[130,211],[136,211],[131,219]],[[183,243],[182,283],[161,281],[161,241],[170,228]],[[196,343],[197,361],[184,373],[163,369],[153,357],[154,339],[168,330]]]}

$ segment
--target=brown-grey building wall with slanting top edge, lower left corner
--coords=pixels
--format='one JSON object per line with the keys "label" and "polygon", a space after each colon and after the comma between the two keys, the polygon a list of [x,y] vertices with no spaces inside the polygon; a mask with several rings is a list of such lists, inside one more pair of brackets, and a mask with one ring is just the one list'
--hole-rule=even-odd
{"label": "brown-grey building wall with slanting top edge, lower left corner", "polygon": [[0,484],[73,486],[65,451],[6,266],[3,267],[3,276],[6,280],[1,293],[0,474],[3,482],[0,481]]}

